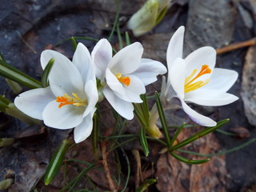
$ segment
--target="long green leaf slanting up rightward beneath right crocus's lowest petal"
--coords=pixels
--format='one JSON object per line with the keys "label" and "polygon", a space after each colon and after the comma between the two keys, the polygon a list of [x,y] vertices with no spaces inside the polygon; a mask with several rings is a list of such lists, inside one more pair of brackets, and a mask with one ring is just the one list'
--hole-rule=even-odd
{"label": "long green leaf slanting up rightward beneath right crocus's lowest petal", "polygon": [[170,150],[177,150],[179,148],[181,148],[182,146],[186,146],[187,144],[189,144],[190,142],[194,142],[195,140],[197,140],[198,138],[202,138],[203,136],[205,136],[206,134],[210,134],[211,132],[213,132],[214,130],[217,130],[218,128],[220,128],[221,126],[224,126],[227,122],[229,122],[230,119],[226,118],[220,122],[217,123],[217,126],[213,126],[213,127],[207,127],[204,130],[199,131],[197,134],[192,135],[190,138],[186,138],[184,141],[179,142],[176,146],[172,146],[170,148]]}

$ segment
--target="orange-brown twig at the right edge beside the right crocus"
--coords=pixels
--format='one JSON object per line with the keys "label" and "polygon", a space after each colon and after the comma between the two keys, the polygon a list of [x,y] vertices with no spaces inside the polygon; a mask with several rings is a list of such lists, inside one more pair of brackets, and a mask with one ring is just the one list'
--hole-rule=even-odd
{"label": "orange-brown twig at the right edge beside the right crocus", "polygon": [[232,51],[232,50],[237,50],[240,49],[242,47],[246,47],[246,46],[255,46],[256,45],[256,38],[252,38],[246,42],[236,42],[234,44],[231,44],[229,46],[224,46],[220,49],[217,49],[216,52],[217,54],[224,54],[226,52]]}

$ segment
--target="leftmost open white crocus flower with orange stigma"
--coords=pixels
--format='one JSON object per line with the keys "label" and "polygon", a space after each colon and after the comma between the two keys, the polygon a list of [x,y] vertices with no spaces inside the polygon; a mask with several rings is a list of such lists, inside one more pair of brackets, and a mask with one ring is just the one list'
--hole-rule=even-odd
{"label": "leftmost open white crocus flower with orange stigma", "polygon": [[32,118],[43,120],[57,129],[74,127],[74,141],[82,142],[91,133],[98,90],[90,53],[78,43],[73,61],[54,50],[41,54],[42,69],[50,58],[54,66],[49,74],[50,86],[28,90],[15,98],[19,110]]}

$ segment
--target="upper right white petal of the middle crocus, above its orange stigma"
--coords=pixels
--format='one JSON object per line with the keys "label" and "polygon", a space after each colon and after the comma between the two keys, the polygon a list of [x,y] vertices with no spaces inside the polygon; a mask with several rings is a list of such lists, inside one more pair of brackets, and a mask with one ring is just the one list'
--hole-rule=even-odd
{"label": "upper right white petal of the middle crocus, above its orange stigma", "polygon": [[142,44],[134,42],[130,46],[126,46],[122,50],[119,50],[111,59],[108,67],[114,74],[130,74],[140,66],[142,52]]}

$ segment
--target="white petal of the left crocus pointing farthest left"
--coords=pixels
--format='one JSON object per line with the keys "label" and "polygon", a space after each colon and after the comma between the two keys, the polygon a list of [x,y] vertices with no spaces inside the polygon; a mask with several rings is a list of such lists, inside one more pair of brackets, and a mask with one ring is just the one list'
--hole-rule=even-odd
{"label": "white petal of the left crocus pointing farthest left", "polygon": [[56,98],[50,87],[28,90],[15,98],[14,104],[24,114],[42,120],[42,111]]}

